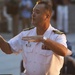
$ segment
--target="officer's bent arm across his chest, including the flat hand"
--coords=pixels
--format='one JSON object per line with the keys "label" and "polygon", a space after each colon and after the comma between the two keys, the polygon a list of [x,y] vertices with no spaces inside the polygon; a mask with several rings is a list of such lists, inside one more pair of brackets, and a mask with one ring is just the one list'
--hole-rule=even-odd
{"label": "officer's bent arm across his chest, including the flat hand", "polygon": [[48,48],[48,50],[52,50],[54,53],[61,56],[67,56],[72,54],[72,52],[64,45],[49,38],[43,38],[43,36],[27,36],[23,37],[22,40],[31,42],[42,42]]}

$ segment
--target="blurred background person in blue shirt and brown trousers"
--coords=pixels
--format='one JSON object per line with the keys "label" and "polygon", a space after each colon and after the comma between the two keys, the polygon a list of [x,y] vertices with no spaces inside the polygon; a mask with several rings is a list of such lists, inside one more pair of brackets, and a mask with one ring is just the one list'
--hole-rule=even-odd
{"label": "blurred background person in blue shirt and brown trousers", "polygon": [[21,0],[20,9],[21,9],[21,18],[22,18],[22,28],[30,27],[31,23],[31,10],[33,7],[32,0]]}

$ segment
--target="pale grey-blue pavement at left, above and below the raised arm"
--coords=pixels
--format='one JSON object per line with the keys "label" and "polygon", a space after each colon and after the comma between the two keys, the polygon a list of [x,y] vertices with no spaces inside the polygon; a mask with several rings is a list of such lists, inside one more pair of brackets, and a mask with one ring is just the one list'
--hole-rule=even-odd
{"label": "pale grey-blue pavement at left, above and below the raised arm", "polygon": [[[7,41],[12,38],[11,33],[0,33]],[[20,75],[21,54],[5,54],[0,50],[0,74]]]}

